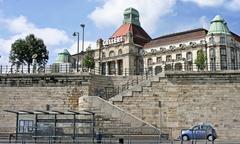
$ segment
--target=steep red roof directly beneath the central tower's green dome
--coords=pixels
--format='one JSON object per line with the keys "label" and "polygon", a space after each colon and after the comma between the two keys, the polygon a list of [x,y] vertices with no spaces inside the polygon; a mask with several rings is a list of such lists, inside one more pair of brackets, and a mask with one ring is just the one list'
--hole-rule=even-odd
{"label": "steep red roof directly beneath the central tower's green dome", "polygon": [[134,24],[123,24],[121,25],[111,36],[111,38],[124,36],[128,32],[133,35],[133,42],[135,44],[144,45],[151,40],[151,37],[144,31],[140,26]]}

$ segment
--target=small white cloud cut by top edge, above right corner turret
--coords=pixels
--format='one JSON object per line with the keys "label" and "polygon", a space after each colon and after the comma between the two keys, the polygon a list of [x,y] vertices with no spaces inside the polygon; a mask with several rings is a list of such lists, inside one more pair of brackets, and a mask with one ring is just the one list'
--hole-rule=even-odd
{"label": "small white cloud cut by top edge, above right corner turret", "polygon": [[181,0],[183,2],[193,2],[196,3],[200,7],[216,7],[216,6],[221,6],[224,4],[225,0]]}

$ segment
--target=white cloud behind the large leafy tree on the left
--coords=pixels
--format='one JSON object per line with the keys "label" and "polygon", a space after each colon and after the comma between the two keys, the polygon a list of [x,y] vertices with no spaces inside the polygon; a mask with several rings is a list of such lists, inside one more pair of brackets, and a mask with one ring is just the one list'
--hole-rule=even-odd
{"label": "white cloud behind the large leafy tree on the left", "polygon": [[[9,52],[11,50],[11,44],[19,39],[24,38],[29,34],[34,34],[36,37],[43,39],[47,46],[47,49],[54,52],[56,48],[73,42],[66,34],[65,31],[44,27],[37,27],[32,22],[24,16],[19,16],[16,18],[3,18],[0,17],[0,24],[2,27],[6,28],[12,35],[8,38],[0,37],[0,64],[7,64]],[[52,54],[51,54],[52,55]],[[50,60],[51,61],[51,60]]]}

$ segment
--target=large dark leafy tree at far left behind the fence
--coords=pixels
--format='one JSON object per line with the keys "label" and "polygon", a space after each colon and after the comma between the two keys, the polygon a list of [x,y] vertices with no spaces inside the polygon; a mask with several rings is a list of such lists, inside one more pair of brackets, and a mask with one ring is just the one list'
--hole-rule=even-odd
{"label": "large dark leafy tree at far left behind the fence", "polygon": [[42,39],[36,38],[33,34],[25,39],[16,40],[11,46],[10,63],[19,67],[21,64],[28,66],[33,62],[32,56],[36,54],[36,62],[39,66],[45,65],[48,61],[48,51]]}

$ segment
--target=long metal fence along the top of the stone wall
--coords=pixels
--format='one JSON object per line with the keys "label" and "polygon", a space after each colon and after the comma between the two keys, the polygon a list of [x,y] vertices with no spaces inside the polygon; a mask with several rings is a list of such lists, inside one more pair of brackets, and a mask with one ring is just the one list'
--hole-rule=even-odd
{"label": "long metal fence along the top of the stone wall", "polygon": [[[181,62],[172,62],[165,64],[156,64],[149,65],[147,68],[124,68],[122,70],[116,71],[115,68],[109,69],[108,71],[102,70],[99,67],[93,69],[83,68],[80,72],[89,72],[96,75],[144,75],[146,73],[152,73],[154,75],[161,73],[163,71],[237,71],[240,70],[240,63],[208,63],[202,66],[199,66],[195,63],[181,63]],[[37,68],[30,66],[9,66],[9,65],[0,65],[0,74],[27,74],[27,73],[77,73],[75,66],[72,66],[69,63],[66,64],[52,64],[52,65],[43,65]]]}

